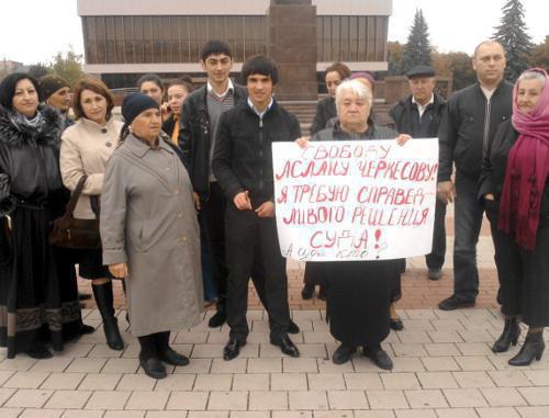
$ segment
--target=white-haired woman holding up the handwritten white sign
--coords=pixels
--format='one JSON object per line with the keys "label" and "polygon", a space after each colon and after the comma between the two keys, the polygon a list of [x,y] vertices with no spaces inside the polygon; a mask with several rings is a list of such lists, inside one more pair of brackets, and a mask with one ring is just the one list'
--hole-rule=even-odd
{"label": "white-haired woman holding up the handwritten white sign", "polygon": [[[399,144],[410,139],[372,124],[371,90],[360,81],[344,81],[336,92],[338,122],[333,128],[317,133],[313,140],[368,140],[394,138]],[[304,145],[304,139],[299,139]],[[341,364],[358,346],[381,369],[391,370],[393,362],[381,348],[390,332],[390,292],[395,260],[323,262],[329,286],[327,313],[329,330],[341,341],[333,361]]]}

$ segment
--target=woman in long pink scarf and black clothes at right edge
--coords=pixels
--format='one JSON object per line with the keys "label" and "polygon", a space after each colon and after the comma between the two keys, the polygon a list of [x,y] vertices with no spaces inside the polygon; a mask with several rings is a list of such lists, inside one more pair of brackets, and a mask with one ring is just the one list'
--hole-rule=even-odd
{"label": "woman in long pink scarf and black clothes at right edge", "polygon": [[492,351],[515,346],[519,320],[528,335],[511,365],[528,365],[545,350],[549,326],[549,77],[539,68],[518,78],[513,116],[488,145],[479,196],[495,247],[505,327]]}

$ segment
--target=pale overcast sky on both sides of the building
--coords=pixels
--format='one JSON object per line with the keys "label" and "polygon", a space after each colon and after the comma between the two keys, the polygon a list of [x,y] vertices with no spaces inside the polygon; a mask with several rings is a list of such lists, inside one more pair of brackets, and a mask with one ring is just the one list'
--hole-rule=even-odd
{"label": "pale overcast sky on both sides of the building", "polygon": [[[422,9],[430,42],[438,50],[471,54],[477,44],[493,34],[503,3],[504,0],[393,0],[389,41],[405,43],[415,10]],[[47,63],[69,45],[82,54],[82,29],[76,4],[76,0],[3,0],[0,59]],[[540,43],[549,35],[547,0],[523,0],[523,4],[528,33],[535,43]]]}

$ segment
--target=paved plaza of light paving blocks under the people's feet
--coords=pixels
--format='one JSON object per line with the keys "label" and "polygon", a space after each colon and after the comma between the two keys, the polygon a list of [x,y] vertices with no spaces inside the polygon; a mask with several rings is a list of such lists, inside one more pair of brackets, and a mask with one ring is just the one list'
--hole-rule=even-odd
{"label": "paved plaza of light paving blocks under the people's feet", "polygon": [[[399,304],[405,329],[392,331],[383,343],[394,361],[392,372],[380,371],[360,352],[347,364],[332,363],[337,343],[324,303],[301,301],[303,266],[292,262],[292,316],[301,328],[292,339],[301,358],[284,357],[268,342],[268,321],[250,290],[251,332],[239,358],[222,359],[227,328],[208,328],[209,310],[198,327],[172,335],[173,347],[191,358],[190,365],[171,368],[167,379],[155,381],[138,369],[138,344],[127,330],[124,351],[107,347],[99,313],[90,304],[85,323],[99,329],[53,359],[8,360],[1,349],[0,417],[547,418],[549,354],[531,366],[511,368],[507,360],[516,347],[503,354],[490,350],[503,324],[485,225],[479,249],[481,293],[473,309],[435,308],[451,293],[451,257],[439,282],[426,279],[422,258],[408,262]],[[80,283],[86,290],[88,283]],[[127,329],[120,312],[121,327]]]}

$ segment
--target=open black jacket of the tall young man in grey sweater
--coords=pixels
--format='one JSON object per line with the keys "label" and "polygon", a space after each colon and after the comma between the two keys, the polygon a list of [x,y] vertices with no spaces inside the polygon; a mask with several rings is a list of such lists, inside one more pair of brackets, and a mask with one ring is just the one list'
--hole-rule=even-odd
{"label": "open black jacket of the tall young man in grey sweater", "polygon": [[[208,114],[208,86],[194,90],[184,100],[179,123],[179,146],[183,151],[186,167],[192,188],[202,197],[210,196],[210,144],[212,131]],[[235,106],[245,103],[246,89],[234,86]]]}

